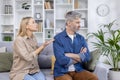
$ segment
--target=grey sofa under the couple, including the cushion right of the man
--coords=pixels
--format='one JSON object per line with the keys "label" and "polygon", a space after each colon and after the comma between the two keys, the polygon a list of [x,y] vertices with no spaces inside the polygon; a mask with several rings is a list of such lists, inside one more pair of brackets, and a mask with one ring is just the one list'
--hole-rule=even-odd
{"label": "grey sofa under the couple, including the cushion right of the man", "polygon": [[[0,42],[0,47],[6,47],[7,48],[6,51],[12,53],[13,52],[12,44],[13,44],[13,42]],[[41,44],[39,44],[39,45],[41,45]],[[98,63],[98,58],[100,56],[99,53],[100,53],[99,50],[91,51],[92,60],[86,66],[87,66],[87,68],[89,67],[88,70],[90,70],[90,71],[95,70],[94,73],[98,76],[99,80],[102,80],[101,79],[102,76],[100,74],[98,74],[98,72],[99,72],[98,68],[95,68],[95,67],[97,67],[96,64]],[[52,70],[53,70],[53,69],[51,69],[52,56],[53,56],[53,45],[52,44],[48,45],[38,56],[38,63],[40,65],[41,71],[46,76],[46,80],[54,80],[53,75],[51,74]],[[97,65],[99,66],[99,64],[97,64]],[[53,68],[53,66],[52,66],[52,68]],[[105,70],[104,71],[103,70],[104,70],[104,68],[100,67],[100,73],[105,72]],[[105,76],[103,76],[103,78],[105,79]],[[10,80],[9,72],[0,72],[0,80]]]}

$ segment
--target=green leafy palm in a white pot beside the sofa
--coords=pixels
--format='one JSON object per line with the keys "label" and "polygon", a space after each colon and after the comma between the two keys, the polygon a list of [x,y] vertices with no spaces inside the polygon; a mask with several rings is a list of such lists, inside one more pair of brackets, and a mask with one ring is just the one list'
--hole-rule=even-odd
{"label": "green leafy palm in a white pot beside the sofa", "polygon": [[[103,28],[96,33],[90,33],[97,41],[92,42],[96,49],[99,49],[103,55],[108,58],[109,64],[109,80],[120,80],[120,30],[114,28],[116,20],[108,24],[102,25]],[[116,74],[117,73],[117,74]]]}

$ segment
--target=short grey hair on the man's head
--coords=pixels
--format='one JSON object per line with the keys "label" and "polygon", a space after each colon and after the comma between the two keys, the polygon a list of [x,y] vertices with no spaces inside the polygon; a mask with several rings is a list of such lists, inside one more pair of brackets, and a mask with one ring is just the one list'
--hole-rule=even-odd
{"label": "short grey hair on the man's head", "polygon": [[65,22],[67,23],[67,21],[73,21],[77,18],[81,18],[81,14],[79,12],[69,11],[65,15]]}

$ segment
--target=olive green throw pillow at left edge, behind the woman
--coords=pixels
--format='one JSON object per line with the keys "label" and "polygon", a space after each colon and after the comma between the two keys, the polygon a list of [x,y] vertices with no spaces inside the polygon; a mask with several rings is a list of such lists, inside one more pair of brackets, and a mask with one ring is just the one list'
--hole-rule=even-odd
{"label": "olive green throw pillow at left edge, behind the woman", "polygon": [[0,72],[10,71],[13,63],[12,53],[0,53]]}

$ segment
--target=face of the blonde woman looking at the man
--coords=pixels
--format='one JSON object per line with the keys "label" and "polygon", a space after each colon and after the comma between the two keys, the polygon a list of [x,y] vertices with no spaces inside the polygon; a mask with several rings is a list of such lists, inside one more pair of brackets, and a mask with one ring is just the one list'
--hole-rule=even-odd
{"label": "face of the blonde woman looking at the man", "polygon": [[38,30],[37,23],[35,22],[35,20],[33,18],[31,18],[29,20],[28,25],[27,25],[27,29],[32,31],[32,32],[35,32]]}

